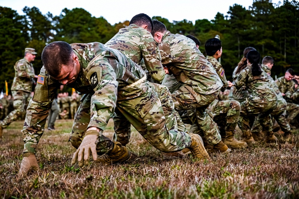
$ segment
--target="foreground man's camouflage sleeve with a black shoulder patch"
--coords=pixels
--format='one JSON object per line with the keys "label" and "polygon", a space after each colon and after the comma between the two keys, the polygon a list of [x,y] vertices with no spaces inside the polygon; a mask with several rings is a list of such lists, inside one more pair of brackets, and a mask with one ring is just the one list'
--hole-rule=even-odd
{"label": "foreground man's camouflage sleeve with a black shoulder patch", "polygon": [[92,65],[86,75],[95,92],[91,98],[88,127],[105,130],[116,107],[118,82],[113,67],[106,60],[95,60]]}

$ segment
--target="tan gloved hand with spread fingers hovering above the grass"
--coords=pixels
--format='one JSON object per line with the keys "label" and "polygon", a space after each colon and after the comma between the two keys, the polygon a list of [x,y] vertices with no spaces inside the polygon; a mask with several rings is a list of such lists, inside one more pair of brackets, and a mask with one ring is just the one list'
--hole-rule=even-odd
{"label": "tan gloved hand with spread fingers hovering above the grass", "polygon": [[83,159],[84,159],[84,165],[87,166],[89,163],[89,154],[92,153],[92,158],[94,161],[97,160],[98,154],[96,151],[96,146],[98,143],[98,136],[99,132],[96,130],[89,130],[86,132],[85,137],[82,140],[81,145],[77,149],[77,151],[74,153],[72,164],[74,165],[77,160],[79,163],[79,167],[83,166]]}

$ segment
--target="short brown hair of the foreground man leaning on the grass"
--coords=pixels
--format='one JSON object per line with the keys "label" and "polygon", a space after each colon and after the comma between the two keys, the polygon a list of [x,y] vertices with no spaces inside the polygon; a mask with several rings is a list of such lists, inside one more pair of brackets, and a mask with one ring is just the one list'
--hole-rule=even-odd
{"label": "short brown hair of the foreground man leaning on the grass", "polygon": [[70,65],[73,62],[72,47],[63,41],[52,42],[46,45],[42,52],[42,62],[49,75],[60,75],[62,65]]}

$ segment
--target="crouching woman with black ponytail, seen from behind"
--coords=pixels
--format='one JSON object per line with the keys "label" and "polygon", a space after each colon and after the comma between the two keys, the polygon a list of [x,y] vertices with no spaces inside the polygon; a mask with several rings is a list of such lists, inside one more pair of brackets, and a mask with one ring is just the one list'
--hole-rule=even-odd
{"label": "crouching woman with black ponytail, seen from behind", "polygon": [[275,110],[277,97],[268,79],[267,73],[259,66],[260,54],[256,50],[247,54],[247,67],[245,67],[235,81],[236,88],[246,86],[249,98],[241,103],[242,132],[247,143],[254,142],[249,121],[259,115],[263,130],[267,133],[266,142],[277,142],[272,131],[270,113]]}

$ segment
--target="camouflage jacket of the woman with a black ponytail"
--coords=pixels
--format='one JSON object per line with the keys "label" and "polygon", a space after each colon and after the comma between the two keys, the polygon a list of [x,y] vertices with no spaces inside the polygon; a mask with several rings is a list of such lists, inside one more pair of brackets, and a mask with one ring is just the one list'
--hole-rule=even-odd
{"label": "camouflage jacket of the woman with a black ponytail", "polygon": [[251,72],[252,66],[247,65],[235,81],[236,88],[246,86],[249,93],[248,101],[252,104],[259,104],[265,101],[277,101],[276,94],[271,88],[271,82],[267,73],[262,70],[259,76],[253,76]]}

